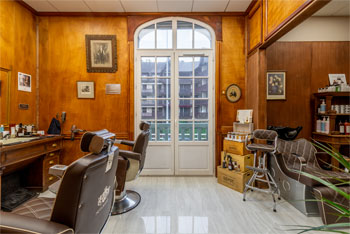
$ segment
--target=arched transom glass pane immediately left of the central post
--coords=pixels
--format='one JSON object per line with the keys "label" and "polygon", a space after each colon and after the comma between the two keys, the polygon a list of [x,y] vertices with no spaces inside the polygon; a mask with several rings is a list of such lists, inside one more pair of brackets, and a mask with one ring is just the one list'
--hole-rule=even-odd
{"label": "arched transom glass pane immediately left of the central post", "polygon": [[173,44],[172,22],[157,23],[157,49],[171,49]]}

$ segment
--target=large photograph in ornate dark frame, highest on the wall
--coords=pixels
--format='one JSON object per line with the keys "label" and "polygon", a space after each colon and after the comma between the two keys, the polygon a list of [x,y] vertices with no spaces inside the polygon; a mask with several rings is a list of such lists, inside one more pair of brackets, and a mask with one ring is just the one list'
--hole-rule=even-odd
{"label": "large photograph in ornate dark frame, highest on the wall", "polygon": [[117,71],[117,38],[115,35],[85,35],[87,72]]}

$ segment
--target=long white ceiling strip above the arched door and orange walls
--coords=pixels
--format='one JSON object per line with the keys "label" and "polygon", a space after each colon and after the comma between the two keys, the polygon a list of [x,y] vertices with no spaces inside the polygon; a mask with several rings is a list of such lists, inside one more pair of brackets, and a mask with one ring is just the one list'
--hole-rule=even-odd
{"label": "long white ceiling strip above the arched door and orange walls", "polygon": [[252,0],[23,0],[38,12],[244,12]]}

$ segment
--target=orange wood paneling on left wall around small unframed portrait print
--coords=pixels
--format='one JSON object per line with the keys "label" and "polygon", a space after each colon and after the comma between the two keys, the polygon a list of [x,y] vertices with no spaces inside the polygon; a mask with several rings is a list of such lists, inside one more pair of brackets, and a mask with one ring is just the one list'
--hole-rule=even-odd
{"label": "orange wood paneling on left wall around small unframed portrait print", "polygon": [[[0,67],[11,71],[10,123],[35,123],[36,16],[15,1],[0,1]],[[6,32],[6,33],[5,33]],[[18,91],[18,72],[32,76],[32,91]],[[28,110],[19,110],[20,103]]]}

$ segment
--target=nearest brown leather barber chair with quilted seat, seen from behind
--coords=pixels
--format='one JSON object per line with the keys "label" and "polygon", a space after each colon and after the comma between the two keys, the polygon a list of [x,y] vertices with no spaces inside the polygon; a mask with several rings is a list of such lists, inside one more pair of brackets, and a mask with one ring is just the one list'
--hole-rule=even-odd
{"label": "nearest brown leather barber chair with quilted seat, seen from behind", "polygon": [[69,165],[56,199],[38,197],[0,213],[0,233],[99,233],[114,203],[118,147],[107,130],[85,133],[88,155]]}

